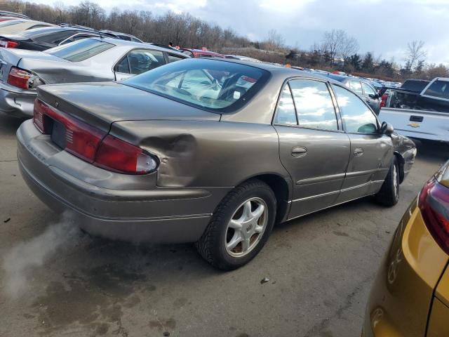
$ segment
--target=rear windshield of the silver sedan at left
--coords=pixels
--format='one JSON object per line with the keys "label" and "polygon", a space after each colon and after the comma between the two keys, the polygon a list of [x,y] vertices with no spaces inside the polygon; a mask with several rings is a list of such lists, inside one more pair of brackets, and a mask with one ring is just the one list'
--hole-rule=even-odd
{"label": "rear windshield of the silver sedan at left", "polygon": [[114,47],[114,44],[109,44],[105,41],[96,39],[82,39],[72,42],[71,44],[64,44],[59,47],[51,48],[46,53],[58,56],[67,61],[80,62],[87,60],[103,51]]}

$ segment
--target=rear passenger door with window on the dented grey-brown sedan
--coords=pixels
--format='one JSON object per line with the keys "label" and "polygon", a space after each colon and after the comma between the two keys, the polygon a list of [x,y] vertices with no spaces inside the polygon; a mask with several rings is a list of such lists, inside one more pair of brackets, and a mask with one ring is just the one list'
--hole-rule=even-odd
{"label": "rear passenger door with window on the dented grey-brown sedan", "polygon": [[350,143],[326,81],[288,81],[273,125],[281,162],[293,180],[288,218],[332,206],[344,181]]}

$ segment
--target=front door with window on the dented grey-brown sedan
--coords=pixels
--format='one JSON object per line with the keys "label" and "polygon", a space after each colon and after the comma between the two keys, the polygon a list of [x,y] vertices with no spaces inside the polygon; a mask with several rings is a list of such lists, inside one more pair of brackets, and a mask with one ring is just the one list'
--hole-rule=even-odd
{"label": "front door with window on the dented grey-brown sedan", "polygon": [[375,114],[356,94],[333,84],[344,131],[351,141],[349,164],[337,203],[377,192],[393,158],[391,138],[381,134]]}

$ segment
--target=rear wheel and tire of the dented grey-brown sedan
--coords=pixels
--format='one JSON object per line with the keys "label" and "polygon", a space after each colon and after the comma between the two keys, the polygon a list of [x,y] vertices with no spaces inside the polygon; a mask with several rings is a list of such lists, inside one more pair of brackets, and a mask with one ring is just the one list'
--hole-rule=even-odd
{"label": "rear wheel and tire of the dented grey-brown sedan", "polygon": [[[264,213],[259,216],[262,212],[260,206]],[[259,218],[256,219],[257,216]],[[196,249],[214,267],[234,270],[246,265],[259,253],[272,232],[275,219],[276,196],[273,190],[261,180],[248,180],[235,187],[220,202],[208,227],[196,242]],[[236,226],[241,228],[235,229]],[[239,239],[241,242],[232,248]]]}

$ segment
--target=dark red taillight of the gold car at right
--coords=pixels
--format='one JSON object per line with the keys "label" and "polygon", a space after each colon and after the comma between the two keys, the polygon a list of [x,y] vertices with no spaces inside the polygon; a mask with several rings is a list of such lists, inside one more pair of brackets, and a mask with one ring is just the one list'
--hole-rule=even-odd
{"label": "dark red taillight of the gold car at right", "polygon": [[418,206],[432,237],[449,254],[449,188],[432,178],[422,188]]}

